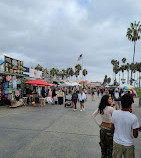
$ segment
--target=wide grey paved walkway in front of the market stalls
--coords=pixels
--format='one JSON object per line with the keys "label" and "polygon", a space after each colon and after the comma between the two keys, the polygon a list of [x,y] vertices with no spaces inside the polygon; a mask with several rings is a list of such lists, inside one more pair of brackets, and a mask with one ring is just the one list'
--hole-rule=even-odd
{"label": "wide grey paved walkway in front of the market stalls", "polygon": [[[84,112],[49,104],[0,107],[0,158],[100,158],[99,127],[92,118],[99,101],[96,97],[92,102],[89,96]],[[133,113],[141,124],[138,99]],[[141,133],[135,145],[140,158]]]}

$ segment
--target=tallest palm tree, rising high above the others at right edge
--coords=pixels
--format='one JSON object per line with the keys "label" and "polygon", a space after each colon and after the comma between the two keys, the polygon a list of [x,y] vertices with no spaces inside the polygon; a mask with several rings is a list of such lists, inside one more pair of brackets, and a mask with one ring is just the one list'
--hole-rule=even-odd
{"label": "tallest palm tree, rising high above the others at right edge", "polygon": [[[138,23],[131,23],[130,28],[127,29],[126,36],[129,39],[129,41],[134,42],[134,53],[133,53],[133,64],[134,64],[134,59],[135,59],[135,47],[136,47],[136,42],[137,40],[140,39],[139,34],[141,33],[141,25],[140,21]],[[131,70],[131,85],[132,85],[132,70]]]}

